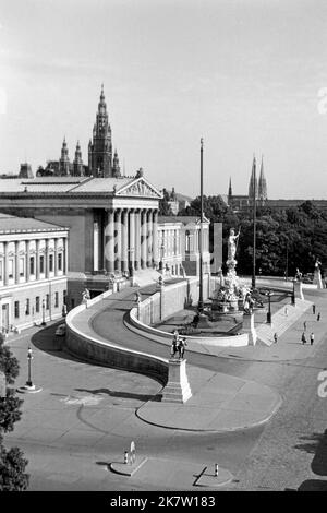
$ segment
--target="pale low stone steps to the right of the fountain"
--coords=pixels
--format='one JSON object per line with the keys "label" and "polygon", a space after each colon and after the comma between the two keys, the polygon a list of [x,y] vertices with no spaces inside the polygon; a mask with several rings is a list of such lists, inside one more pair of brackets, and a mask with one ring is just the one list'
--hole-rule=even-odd
{"label": "pale low stone steps to the right of the fountain", "polygon": [[258,342],[264,345],[271,346],[274,344],[274,334],[277,333],[279,337],[282,335],[294,322],[296,322],[303,313],[312,306],[311,301],[305,299],[296,299],[296,305],[288,305],[288,315],[284,313],[284,307],[278,310],[272,315],[272,324],[259,324],[256,327]]}

